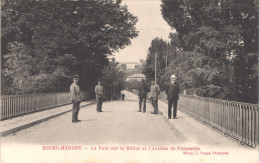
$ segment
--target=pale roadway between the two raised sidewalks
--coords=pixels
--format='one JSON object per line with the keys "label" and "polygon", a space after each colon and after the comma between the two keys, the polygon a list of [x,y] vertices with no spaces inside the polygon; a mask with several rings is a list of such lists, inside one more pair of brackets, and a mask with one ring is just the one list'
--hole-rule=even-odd
{"label": "pale roadway between the two raised sidewalks", "polygon": [[127,94],[127,101],[103,103],[103,112],[96,112],[96,105],[82,107],[81,122],[72,123],[71,113],[51,119],[4,138],[5,142],[35,144],[182,144],[184,139],[177,130],[165,122],[161,115],[138,110],[136,96]]}

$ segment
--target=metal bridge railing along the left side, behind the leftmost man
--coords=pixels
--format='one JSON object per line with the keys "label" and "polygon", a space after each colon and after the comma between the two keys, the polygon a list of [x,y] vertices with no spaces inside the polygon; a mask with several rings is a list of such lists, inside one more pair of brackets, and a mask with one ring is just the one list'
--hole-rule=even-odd
{"label": "metal bridge railing along the left side, behind the leftmost man", "polygon": [[[83,100],[88,93],[82,92]],[[1,96],[1,120],[71,103],[69,92]]]}

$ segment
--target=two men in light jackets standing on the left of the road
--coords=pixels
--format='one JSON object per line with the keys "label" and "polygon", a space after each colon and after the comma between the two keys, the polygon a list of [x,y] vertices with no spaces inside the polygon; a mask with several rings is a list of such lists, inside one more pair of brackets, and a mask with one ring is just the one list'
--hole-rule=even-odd
{"label": "two men in light jackets standing on the left of the road", "polygon": [[[78,113],[79,113],[79,105],[81,102],[81,91],[79,87],[79,76],[74,75],[73,77],[73,83],[70,86],[70,94],[71,94],[71,100],[73,103],[72,107],[72,122],[77,123],[80,122],[78,119]],[[95,93],[96,93],[96,102],[97,102],[97,112],[102,112],[102,103],[104,98],[104,87],[101,84],[101,81],[98,81],[98,84],[95,87]]]}

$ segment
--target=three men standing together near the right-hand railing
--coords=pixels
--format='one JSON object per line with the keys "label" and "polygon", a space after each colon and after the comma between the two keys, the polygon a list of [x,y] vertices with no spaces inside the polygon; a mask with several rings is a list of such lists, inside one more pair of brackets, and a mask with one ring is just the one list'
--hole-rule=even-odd
{"label": "three men standing together near the right-hand railing", "polygon": [[[179,93],[180,88],[179,85],[176,82],[176,76],[171,76],[171,82],[168,84],[165,88],[165,92],[167,94],[167,100],[168,100],[168,119],[171,119],[172,113],[173,113],[173,119],[177,118],[177,103],[179,100]],[[158,114],[158,96],[160,94],[160,87],[158,84],[155,83],[154,80],[151,80],[151,87],[150,91],[148,90],[148,87],[145,84],[145,80],[141,80],[141,85],[138,90],[138,96],[139,96],[139,110],[138,112],[146,112],[146,98],[147,93],[150,92],[150,98],[152,102],[152,106],[154,108],[154,111],[152,114]],[[143,111],[142,111],[142,105],[143,105]],[[172,112],[173,108],[173,112]]]}

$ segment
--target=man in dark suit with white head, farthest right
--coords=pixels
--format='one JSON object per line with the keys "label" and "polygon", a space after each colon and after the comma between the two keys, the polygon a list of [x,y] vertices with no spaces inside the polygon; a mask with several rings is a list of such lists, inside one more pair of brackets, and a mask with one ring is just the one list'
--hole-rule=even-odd
{"label": "man in dark suit with white head, farthest right", "polygon": [[165,92],[167,94],[167,100],[168,100],[168,119],[171,119],[172,106],[173,106],[173,118],[176,119],[180,88],[176,82],[175,75],[171,76],[171,83],[166,86]]}

